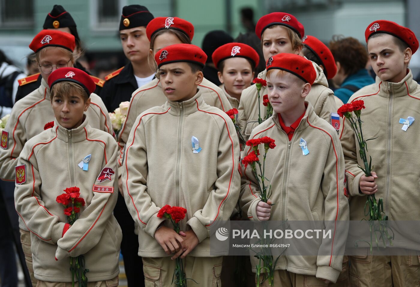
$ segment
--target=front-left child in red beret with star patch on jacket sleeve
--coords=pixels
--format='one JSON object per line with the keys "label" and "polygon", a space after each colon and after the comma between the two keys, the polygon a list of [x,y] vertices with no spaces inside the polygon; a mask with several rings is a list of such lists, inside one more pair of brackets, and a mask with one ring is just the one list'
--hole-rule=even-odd
{"label": "front-left child in red beret with star patch on jacket sleeve", "polygon": [[36,286],[77,282],[71,260],[81,272],[88,269],[84,286],[117,286],[122,235],[112,214],[118,196],[115,138],[89,125],[95,83],[87,73],[54,70],[48,89],[54,123],[25,143],[15,163],[16,211],[31,232]]}

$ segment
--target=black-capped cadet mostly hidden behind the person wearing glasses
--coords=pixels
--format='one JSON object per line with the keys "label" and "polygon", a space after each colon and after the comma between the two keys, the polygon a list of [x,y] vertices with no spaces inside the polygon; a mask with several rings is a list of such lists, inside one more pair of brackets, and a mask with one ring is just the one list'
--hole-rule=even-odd
{"label": "black-capped cadet mostly hidden behind the person wearing glasses", "polygon": [[[44,26],[42,26],[42,28],[57,29],[72,34],[76,39],[76,50],[78,50],[79,53],[81,52],[81,42],[79,34],[77,33],[76,23],[70,13],[68,13],[63,6],[54,5],[53,10],[51,10],[45,18]],[[74,63],[74,67],[88,73],[87,70],[85,70],[85,68],[83,68],[83,66],[77,61]],[[96,84],[95,94],[99,95],[105,81],[92,75],[90,77]],[[39,86],[41,86],[41,80],[42,76],[40,73],[19,79],[19,87],[16,92],[16,102],[25,97],[27,94],[30,94],[32,91],[38,89]]]}

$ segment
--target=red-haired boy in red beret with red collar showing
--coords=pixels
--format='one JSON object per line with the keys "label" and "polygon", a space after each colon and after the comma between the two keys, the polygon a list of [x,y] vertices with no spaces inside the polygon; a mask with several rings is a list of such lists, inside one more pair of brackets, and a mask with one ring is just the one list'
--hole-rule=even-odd
{"label": "red-haired boy in red beret with red collar showing", "polygon": [[[245,164],[240,204],[252,221],[320,221],[331,230],[331,238],[311,239],[308,235],[303,240],[290,240],[290,252],[279,256],[273,266],[272,285],[328,286],[341,272],[349,220],[340,140],[335,129],[305,100],[317,77],[312,62],[286,53],[270,59],[266,75],[273,116],[254,128],[250,139],[261,153],[257,155],[260,161],[264,157],[264,176],[273,192],[267,202],[261,201],[260,183],[251,166]],[[275,147],[265,158],[260,139],[267,137],[275,141]],[[252,146],[244,152],[255,155]],[[271,251],[273,256],[278,254]],[[258,259],[252,256],[251,262],[255,272]],[[263,286],[269,286],[269,280]]]}

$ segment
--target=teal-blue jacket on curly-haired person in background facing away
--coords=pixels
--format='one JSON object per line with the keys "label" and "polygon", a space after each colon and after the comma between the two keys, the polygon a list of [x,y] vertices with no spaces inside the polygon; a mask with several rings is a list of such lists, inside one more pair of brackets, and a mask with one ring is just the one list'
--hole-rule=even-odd
{"label": "teal-blue jacket on curly-haired person in background facing away", "polygon": [[354,92],[373,83],[375,83],[375,80],[369,75],[367,70],[360,69],[355,74],[348,76],[343,81],[340,88],[334,91],[334,95],[339,97],[345,104],[349,101]]}

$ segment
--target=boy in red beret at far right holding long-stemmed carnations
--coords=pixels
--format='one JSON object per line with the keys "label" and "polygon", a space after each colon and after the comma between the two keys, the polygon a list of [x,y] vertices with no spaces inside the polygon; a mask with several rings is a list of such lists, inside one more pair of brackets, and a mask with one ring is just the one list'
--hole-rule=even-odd
{"label": "boy in red beret at far right holding long-stemmed carnations", "polygon": [[[369,155],[375,171],[367,177],[358,165],[360,159],[354,131],[348,119],[340,129],[346,161],[346,177],[351,196],[350,220],[364,217],[366,195],[383,199],[383,216],[390,222],[418,220],[419,177],[413,167],[420,164],[417,142],[420,133],[420,86],[413,80],[409,63],[418,47],[416,35],[397,23],[377,20],[365,30],[370,63],[379,81],[355,92],[349,103],[364,101],[363,136],[369,141]],[[368,217],[365,217],[369,219]],[[392,246],[386,242],[383,256],[370,254],[369,240],[350,230],[349,242],[360,243],[362,256],[350,256],[350,282],[361,287],[416,286],[420,278],[418,226],[405,225],[393,232]],[[395,227],[394,227],[394,230]],[[382,242],[379,247],[382,247]],[[394,250],[398,250],[395,252]],[[387,256],[395,254],[395,256]]]}

